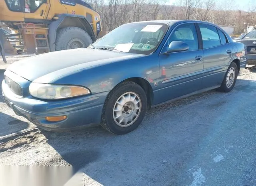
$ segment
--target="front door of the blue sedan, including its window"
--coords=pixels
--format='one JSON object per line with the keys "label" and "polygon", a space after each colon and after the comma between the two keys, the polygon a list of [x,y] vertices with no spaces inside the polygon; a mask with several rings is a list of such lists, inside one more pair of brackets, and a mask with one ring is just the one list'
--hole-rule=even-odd
{"label": "front door of the blue sedan, including its window", "polygon": [[160,81],[155,92],[158,103],[201,89],[204,53],[199,48],[195,24],[181,24],[174,28],[164,49],[172,41],[185,42],[189,49],[159,55]]}

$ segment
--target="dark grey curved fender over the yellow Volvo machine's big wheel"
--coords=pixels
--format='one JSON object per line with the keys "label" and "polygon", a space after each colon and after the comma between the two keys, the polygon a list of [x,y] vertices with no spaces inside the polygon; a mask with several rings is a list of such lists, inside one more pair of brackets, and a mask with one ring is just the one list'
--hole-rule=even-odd
{"label": "dark grey curved fender over the yellow Volvo machine's big wheel", "polygon": [[61,14],[57,20],[52,21],[48,25],[48,28],[49,28],[48,40],[49,40],[50,51],[56,51],[55,42],[56,42],[57,30],[59,28],[66,28],[70,26],[81,28],[82,30],[84,30],[89,34],[93,42],[96,41],[96,36],[94,34],[92,26],[84,16],[79,16],[74,14]]}

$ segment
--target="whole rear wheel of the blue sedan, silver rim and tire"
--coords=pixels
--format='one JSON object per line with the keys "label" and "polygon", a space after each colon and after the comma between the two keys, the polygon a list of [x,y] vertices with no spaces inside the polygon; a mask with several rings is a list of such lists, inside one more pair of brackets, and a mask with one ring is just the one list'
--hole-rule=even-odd
{"label": "whole rear wheel of the blue sedan, silver rim and tire", "polygon": [[218,88],[217,90],[221,92],[232,91],[232,89],[236,84],[237,75],[238,75],[237,65],[236,63],[232,62],[228,67],[226,75],[222,81],[221,87]]}

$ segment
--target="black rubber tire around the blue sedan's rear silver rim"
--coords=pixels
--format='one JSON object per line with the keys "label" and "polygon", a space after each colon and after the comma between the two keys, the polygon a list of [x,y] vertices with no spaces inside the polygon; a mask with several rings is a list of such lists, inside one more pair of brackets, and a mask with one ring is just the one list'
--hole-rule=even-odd
{"label": "black rubber tire around the blue sedan's rear silver rim", "polygon": [[[230,70],[231,69],[231,70]],[[230,77],[230,71],[232,71],[232,69],[234,69],[234,71],[232,73],[234,73],[234,80],[233,80],[233,83],[231,85],[229,85],[228,83],[226,83],[226,79],[227,79],[227,76]],[[236,84],[236,79],[237,79],[237,76],[238,76],[238,68],[237,68],[237,65],[235,62],[232,62],[229,67],[228,67],[228,70],[225,74],[225,77],[221,83],[221,86],[220,88],[218,88],[217,90],[220,91],[220,92],[230,92],[232,91],[232,89],[234,88],[235,84]],[[229,85],[229,86],[228,86]]]}

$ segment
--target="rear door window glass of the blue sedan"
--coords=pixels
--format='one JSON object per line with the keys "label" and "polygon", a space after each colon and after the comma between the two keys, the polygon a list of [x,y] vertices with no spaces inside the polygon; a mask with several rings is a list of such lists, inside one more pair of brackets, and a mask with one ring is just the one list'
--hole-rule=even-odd
{"label": "rear door window glass of the blue sedan", "polygon": [[216,27],[208,24],[198,25],[202,34],[204,48],[210,48],[220,45],[220,37]]}

